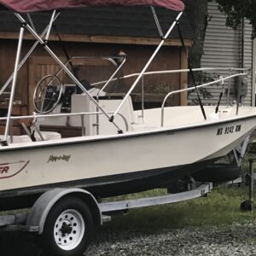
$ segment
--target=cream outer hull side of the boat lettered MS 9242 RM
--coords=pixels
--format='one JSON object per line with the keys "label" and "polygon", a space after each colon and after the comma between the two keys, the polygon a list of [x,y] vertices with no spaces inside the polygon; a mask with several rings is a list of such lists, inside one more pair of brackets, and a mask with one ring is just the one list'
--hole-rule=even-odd
{"label": "cream outer hull side of the boat lettered MS 9242 RM", "polygon": [[[159,187],[228,154],[254,127],[255,116],[251,115],[246,119],[179,128],[1,147],[0,166],[6,169],[0,172],[0,197],[15,195],[11,191],[31,193],[71,184],[90,188],[101,196]],[[8,164],[13,162],[24,166],[17,172],[15,166]],[[123,184],[126,183],[129,190],[129,182],[143,181],[143,178],[150,178],[150,182],[140,188],[135,188],[137,183],[133,183],[131,191],[124,189]],[[105,186],[108,189],[104,189]],[[113,191],[110,191],[111,186]]]}

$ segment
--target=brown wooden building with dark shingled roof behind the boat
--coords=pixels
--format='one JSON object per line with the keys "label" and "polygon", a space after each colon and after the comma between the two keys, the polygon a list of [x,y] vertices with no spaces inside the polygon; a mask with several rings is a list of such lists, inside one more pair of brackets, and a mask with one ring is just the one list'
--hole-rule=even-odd
{"label": "brown wooden building with dark shingled roof behind the boat", "polygon": [[[176,13],[167,9],[156,9],[163,31],[171,26],[176,18]],[[41,33],[50,20],[49,13],[32,14],[32,26]],[[26,20],[29,20],[26,18]],[[13,72],[15,62],[15,50],[20,28],[19,20],[9,12],[3,12],[0,16],[0,70],[4,71],[0,76],[0,84],[4,84]],[[192,34],[188,21],[181,21],[183,37],[186,47],[192,44]],[[49,46],[61,60],[67,61],[67,55],[72,56],[113,56],[120,51],[125,52],[127,61],[122,75],[138,73],[156,45],[160,43],[160,35],[155,26],[154,19],[149,8],[102,8],[102,9],[69,9],[63,10],[60,17],[55,20],[55,28],[52,29],[49,38]],[[21,57],[26,54],[33,44],[32,35],[25,33]],[[61,38],[61,42],[60,42]],[[150,70],[180,69],[188,67],[186,55],[177,36],[177,31],[166,40],[160,54],[148,68]],[[87,61],[88,62],[88,61]],[[86,79],[94,83],[98,79],[107,79],[113,72],[111,64],[101,61],[83,63],[86,68]],[[108,67],[107,67],[108,66]],[[42,46],[38,46],[20,69],[17,91],[15,96],[16,107],[22,106],[23,113],[33,111],[33,92],[36,84],[46,74],[55,74],[59,70],[55,61],[47,55]],[[64,83],[68,83],[66,77],[62,77]],[[119,91],[128,89],[132,80],[127,80],[117,88]],[[180,89],[187,84],[186,74],[173,74],[164,76],[152,76],[145,79],[146,92],[154,91],[165,85],[167,89]],[[116,86],[116,85],[114,85]],[[141,89],[137,89],[137,92]],[[6,102],[6,100],[5,100]],[[185,105],[186,94],[175,96],[173,105]],[[5,103],[3,102],[3,105]],[[3,106],[2,105],[2,106]],[[19,112],[19,111],[18,111]]]}

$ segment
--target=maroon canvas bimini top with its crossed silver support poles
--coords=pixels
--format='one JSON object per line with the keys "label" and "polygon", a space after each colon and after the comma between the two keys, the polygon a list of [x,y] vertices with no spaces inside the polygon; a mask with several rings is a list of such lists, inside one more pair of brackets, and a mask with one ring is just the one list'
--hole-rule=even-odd
{"label": "maroon canvas bimini top with its crossed silver support poles", "polygon": [[[110,122],[113,123],[113,125],[117,128],[119,133],[122,133],[123,131],[121,131],[119,129],[119,126],[114,122],[114,117],[117,115],[117,113],[119,113],[120,108],[123,106],[124,102],[127,100],[128,96],[131,95],[132,90],[134,90],[134,88],[137,86],[137,84],[139,83],[140,79],[142,79],[143,77],[143,73],[145,73],[148,69],[148,66],[150,65],[150,63],[154,60],[155,55],[157,55],[157,53],[159,52],[160,48],[163,46],[163,44],[165,43],[166,39],[169,37],[170,33],[172,32],[173,28],[176,26],[178,20],[180,19],[180,17],[183,15],[182,10],[184,9],[184,5],[183,2],[181,2],[180,0],[166,0],[166,1],[159,1],[159,0],[143,0],[143,1],[135,1],[135,0],[131,0],[131,1],[113,1],[113,0],[98,0],[98,1],[89,1],[89,0],[81,0],[79,1],[60,1],[60,0],[34,0],[34,1],[27,1],[27,0],[0,0],[0,3],[2,3],[4,6],[7,6],[10,9],[14,9],[15,11],[18,12],[33,12],[33,11],[38,11],[38,10],[49,10],[49,9],[61,9],[61,8],[73,8],[73,7],[81,7],[81,6],[112,6],[112,5],[120,5],[120,6],[134,6],[134,5],[157,5],[157,6],[161,6],[161,7],[166,7],[167,9],[173,9],[173,10],[178,10],[181,11],[178,15],[176,20],[172,23],[172,26],[169,28],[169,30],[166,32],[166,35],[164,37],[161,37],[161,41],[159,46],[157,47],[157,49],[155,49],[154,54],[150,57],[150,59],[148,60],[147,64],[145,65],[145,67],[143,68],[143,71],[139,74],[139,76],[137,77],[136,81],[134,82],[134,84],[131,85],[131,89],[128,91],[128,93],[125,95],[123,101],[119,104],[119,107],[114,111],[113,115],[110,117],[108,115],[108,113],[106,113],[104,111],[104,109],[102,108],[102,106],[99,104],[99,102],[97,102],[93,96],[90,95],[90,93],[88,92],[88,90],[84,89],[83,84],[80,83],[79,79],[77,79],[74,74],[67,68],[67,66],[60,60],[60,58],[58,58],[57,55],[55,55],[55,53],[49,48],[48,46],[48,39],[49,39],[49,33],[52,27],[53,22],[55,21],[56,17],[59,15],[59,13],[57,13],[55,10],[53,11],[53,14],[51,16],[51,19],[49,21],[49,26],[48,28],[43,32],[43,34],[41,35],[41,37],[38,35],[38,33],[33,29],[32,26],[30,26],[26,20],[24,20],[24,18],[18,14],[15,13],[15,16],[20,20],[21,22],[21,27],[20,27],[20,37],[19,37],[19,44],[18,44],[18,48],[17,48],[17,54],[16,54],[16,60],[15,60],[15,71],[14,74],[12,76],[12,78],[9,79],[9,81],[12,80],[12,89],[11,89],[11,95],[10,95],[10,101],[9,101],[9,111],[8,111],[8,117],[7,117],[7,123],[6,123],[6,128],[5,128],[5,133],[4,133],[4,140],[2,142],[2,145],[7,145],[7,138],[9,135],[9,126],[10,126],[10,117],[11,117],[11,113],[12,113],[12,108],[13,108],[13,102],[14,102],[14,96],[15,96],[15,85],[16,85],[16,80],[17,80],[17,74],[18,71],[20,69],[20,67],[23,65],[24,62],[21,61],[20,62],[20,52],[21,52],[21,47],[22,47],[22,40],[23,40],[23,34],[24,34],[24,30],[25,28],[28,30],[28,32],[30,32],[32,34],[32,36],[38,41],[39,44],[41,44],[44,49],[49,53],[49,55],[52,56],[52,58],[60,65],[60,67],[63,69],[63,71],[65,73],[67,73],[67,75],[73,80],[73,82],[75,84],[77,84],[79,86],[79,88],[84,91],[84,93],[90,97],[91,102],[93,102],[94,104],[96,104],[97,109],[99,109],[107,118]],[[154,20],[156,21],[156,25],[159,29],[159,32],[161,32],[160,30],[160,25],[159,22],[157,20],[157,17],[155,15],[154,9],[151,7],[151,9],[153,10],[153,15],[154,15]],[[45,38],[44,34],[46,33]],[[35,46],[37,44],[34,44]],[[34,48],[32,48],[28,55],[26,55],[27,57],[32,53],[32,50]],[[5,84],[5,86],[7,86],[7,84]]]}

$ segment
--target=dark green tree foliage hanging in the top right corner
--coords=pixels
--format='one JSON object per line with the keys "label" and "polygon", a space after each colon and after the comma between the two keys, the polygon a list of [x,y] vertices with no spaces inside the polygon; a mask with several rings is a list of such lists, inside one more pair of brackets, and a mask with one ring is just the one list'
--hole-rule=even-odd
{"label": "dark green tree foliage hanging in the top right corner", "polygon": [[253,38],[256,37],[256,1],[255,0],[216,0],[219,9],[227,15],[226,25],[236,29],[243,18],[253,26]]}

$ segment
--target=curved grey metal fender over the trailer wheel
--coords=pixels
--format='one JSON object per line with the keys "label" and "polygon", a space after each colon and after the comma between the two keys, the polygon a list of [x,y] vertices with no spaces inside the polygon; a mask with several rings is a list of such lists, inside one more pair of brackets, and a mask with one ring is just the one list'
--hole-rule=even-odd
{"label": "curved grey metal fender over the trailer wheel", "polygon": [[90,207],[95,224],[102,224],[102,212],[98,206],[96,198],[84,189],[51,189],[41,195],[32,206],[32,210],[26,219],[26,225],[38,226],[38,234],[43,234],[44,223],[50,209],[57,201],[68,195],[76,195],[82,198],[84,203]]}

